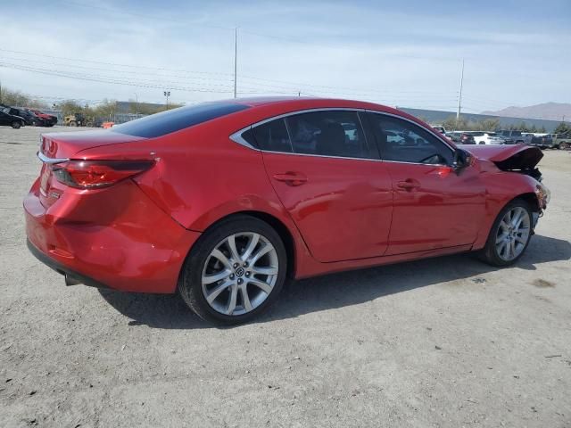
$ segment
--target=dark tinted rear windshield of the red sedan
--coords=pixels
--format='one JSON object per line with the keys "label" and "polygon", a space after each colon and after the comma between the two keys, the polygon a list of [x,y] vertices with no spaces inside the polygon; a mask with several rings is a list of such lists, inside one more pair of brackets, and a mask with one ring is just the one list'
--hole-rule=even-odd
{"label": "dark tinted rear windshield of the red sedan", "polygon": [[128,136],[154,138],[247,108],[249,107],[244,104],[228,102],[189,105],[170,111],[162,111],[142,119],[132,120],[113,127],[112,131],[127,134]]}

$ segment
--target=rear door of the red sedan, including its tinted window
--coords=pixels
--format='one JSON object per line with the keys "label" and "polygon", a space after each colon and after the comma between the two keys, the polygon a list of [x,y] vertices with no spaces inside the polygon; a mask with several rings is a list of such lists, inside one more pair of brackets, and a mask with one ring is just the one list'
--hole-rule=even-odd
{"label": "rear door of the red sedan, including its tinted window", "polygon": [[252,128],[280,201],[321,262],[382,256],[393,194],[358,111],[308,111]]}

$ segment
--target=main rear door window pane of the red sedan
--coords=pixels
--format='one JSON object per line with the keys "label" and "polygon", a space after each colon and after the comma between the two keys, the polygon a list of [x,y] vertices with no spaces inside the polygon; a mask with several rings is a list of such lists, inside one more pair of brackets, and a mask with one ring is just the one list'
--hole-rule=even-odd
{"label": "main rear door window pane of the red sedan", "polygon": [[295,153],[368,158],[356,111],[312,111],[285,118]]}

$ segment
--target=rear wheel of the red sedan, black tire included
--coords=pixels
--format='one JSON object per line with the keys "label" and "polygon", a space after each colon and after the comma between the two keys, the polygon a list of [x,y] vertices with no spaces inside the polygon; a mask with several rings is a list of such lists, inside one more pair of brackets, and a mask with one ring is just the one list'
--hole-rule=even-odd
{"label": "rear wheel of the red sedan, black tire included", "polygon": [[[228,240],[235,242],[235,257]],[[275,273],[254,272],[264,268]],[[178,293],[206,321],[218,325],[242,324],[259,316],[277,299],[286,271],[287,254],[277,232],[258,218],[240,215],[222,220],[194,244],[181,272]],[[203,278],[208,279],[203,281]],[[233,302],[234,308],[230,310]]]}

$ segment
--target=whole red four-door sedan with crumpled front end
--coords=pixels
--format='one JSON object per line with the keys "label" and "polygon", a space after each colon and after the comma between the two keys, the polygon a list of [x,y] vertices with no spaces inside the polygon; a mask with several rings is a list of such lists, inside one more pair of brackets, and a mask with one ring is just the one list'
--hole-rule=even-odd
{"label": "whole red four-door sedan with crumpled front end", "polygon": [[29,249],[65,276],[179,292],[239,323],[302,278],[478,251],[508,266],[549,200],[535,147],[469,152],[374,103],[203,103],[41,138]]}

